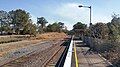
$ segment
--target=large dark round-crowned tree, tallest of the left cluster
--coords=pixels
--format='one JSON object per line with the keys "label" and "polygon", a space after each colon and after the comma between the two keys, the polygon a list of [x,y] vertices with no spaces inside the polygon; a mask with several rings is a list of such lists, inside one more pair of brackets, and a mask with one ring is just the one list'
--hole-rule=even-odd
{"label": "large dark round-crowned tree, tallest of the left cluster", "polygon": [[23,30],[24,27],[26,27],[30,15],[28,12],[22,9],[9,11],[9,14],[12,18],[11,25],[13,26],[13,31],[19,34],[20,31]]}

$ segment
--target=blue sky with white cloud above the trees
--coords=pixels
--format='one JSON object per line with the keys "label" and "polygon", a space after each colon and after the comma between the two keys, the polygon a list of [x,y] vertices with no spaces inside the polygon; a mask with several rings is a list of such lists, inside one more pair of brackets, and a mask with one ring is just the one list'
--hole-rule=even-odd
{"label": "blue sky with white cloud above the trees", "polygon": [[112,15],[120,14],[120,0],[0,0],[0,10],[11,11],[23,9],[30,13],[34,23],[37,17],[45,17],[52,24],[63,22],[68,30],[77,22],[89,25],[89,9],[78,5],[92,7],[92,23],[107,23]]}

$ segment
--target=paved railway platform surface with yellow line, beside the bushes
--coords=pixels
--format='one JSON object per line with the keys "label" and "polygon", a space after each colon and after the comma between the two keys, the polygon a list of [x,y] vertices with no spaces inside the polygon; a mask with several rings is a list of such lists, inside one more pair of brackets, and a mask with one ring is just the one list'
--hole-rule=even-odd
{"label": "paved railway platform surface with yellow line, beside the bushes", "polygon": [[98,53],[88,51],[89,47],[85,47],[82,41],[74,40],[73,42],[71,67],[113,67]]}

